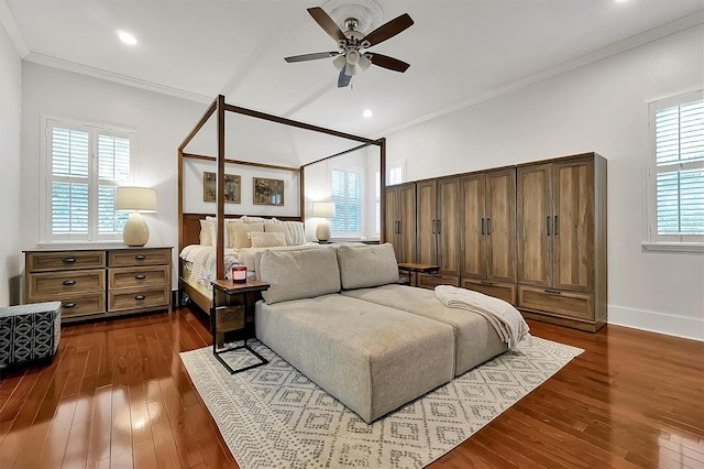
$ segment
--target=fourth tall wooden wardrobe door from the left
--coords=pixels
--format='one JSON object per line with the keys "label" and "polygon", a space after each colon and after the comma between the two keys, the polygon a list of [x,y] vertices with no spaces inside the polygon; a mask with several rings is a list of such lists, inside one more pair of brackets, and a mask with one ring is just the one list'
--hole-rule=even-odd
{"label": "fourth tall wooden wardrobe door from the left", "polygon": [[438,238],[438,265],[443,275],[454,276],[460,282],[460,178],[438,181],[438,218],[436,234]]}

